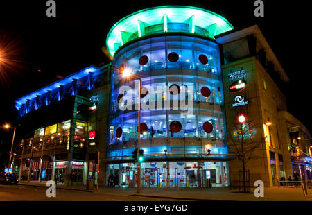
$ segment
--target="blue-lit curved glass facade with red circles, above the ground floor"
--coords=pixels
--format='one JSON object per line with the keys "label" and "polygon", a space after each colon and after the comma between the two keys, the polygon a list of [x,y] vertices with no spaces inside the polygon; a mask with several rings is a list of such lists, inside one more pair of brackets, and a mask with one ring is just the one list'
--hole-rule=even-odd
{"label": "blue-lit curved glass facade with red circles, above the ground floor", "polygon": [[[141,123],[147,126],[140,138],[144,155],[164,154],[164,150],[168,155],[205,154],[208,149],[211,154],[227,153],[216,43],[169,34],[139,40],[114,55],[112,68],[108,156],[132,155],[136,148],[139,78],[148,90],[141,98]],[[132,78],[123,77],[121,71]],[[172,85],[179,88],[177,95],[166,88]],[[125,86],[128,90],[121,90]],[[187,107],[187,113],[182,107]],[[174,121],[180,123],[177,130],[171,127]],[[207,123],[212,126],[208,132]]]}

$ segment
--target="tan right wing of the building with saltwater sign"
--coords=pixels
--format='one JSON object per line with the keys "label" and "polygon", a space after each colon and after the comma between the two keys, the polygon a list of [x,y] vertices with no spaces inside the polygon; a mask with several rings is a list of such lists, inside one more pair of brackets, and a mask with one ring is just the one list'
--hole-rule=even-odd
{"label": "tan right wing of the building with saltwater sign", "polygon": [[[224,56],[222,71],[229,153],[237,155],[234,146],[242,139],[245,153],[253,150],[246,165],[250,185],[262,180],[266,187],[272,187],[282,177],[293,177],[293,171],[300,175],[305,173],[306,179],[311,180],[311,143],[306,140],[311,134],[287,112],[286,97],[279,86],[288,81],[288,76],[258,26],[219,35],[216,41]],[[240,83],[240,87],[231,90]],[[243,124],[245,128],[240,128],[236,120],[240,114],[247,119]],[[229,162],[232,185],[239,184],[239,169],[242,168],[240,160]]]}

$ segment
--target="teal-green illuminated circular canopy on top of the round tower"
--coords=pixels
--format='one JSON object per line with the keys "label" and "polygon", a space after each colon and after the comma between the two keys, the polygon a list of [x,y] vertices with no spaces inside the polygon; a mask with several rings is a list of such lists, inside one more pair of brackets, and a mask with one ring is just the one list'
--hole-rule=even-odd
{"label": "teal-green illuminated circular canopy on top of the round tower", "polygon": [[233,29],[225,18],[214,12],[190,6],[159,6],[134,12],[119,20],[107,35],[111,55],[123,44],[155,33],[185,32],[205,37]]}

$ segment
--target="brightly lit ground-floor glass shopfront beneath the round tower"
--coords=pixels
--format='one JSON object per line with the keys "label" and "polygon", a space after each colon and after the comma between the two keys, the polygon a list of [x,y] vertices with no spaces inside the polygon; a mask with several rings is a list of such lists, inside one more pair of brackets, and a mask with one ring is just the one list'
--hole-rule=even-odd
{"label": "brightly lit ground-floor glass shopfront beneath the round tower", "polygon": [[[107,164],[107,178],[114,175],[114,185],[137,186],[137,165]],[[145,162],[141,164],[142,187],[227,187],[227,162]],[[106,182],[107,183],[107,182]],[[167,185],[168,184],[168,185]]]}

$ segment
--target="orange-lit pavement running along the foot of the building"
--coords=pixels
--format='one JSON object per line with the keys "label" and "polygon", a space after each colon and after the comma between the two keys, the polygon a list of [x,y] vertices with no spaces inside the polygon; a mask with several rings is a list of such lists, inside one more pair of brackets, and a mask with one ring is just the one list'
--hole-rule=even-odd
{"label": "orange-lit pavement running along the foot of the building", "polygon": [[[46,187],[45,182],[26,182],[19,183],[19,186]],[[270,187],[264,188],[264,197],[255,197],[254,189],[250,193],[239,193],[229,188],[142,188],[141,193],[137,194],[134,188],[107,188],[100,187],[98,191],[87,190],[81,186],[65,186],[57,184],[57,189],[84,191],[89,193],[102,193],[110,195],[162,198],[176,200],[227,200],[227,201],[312,201],[312,189],[308,189],[308,195],[304,195],[301,187]],[[130,198],[131,200],[131,198]]]}

